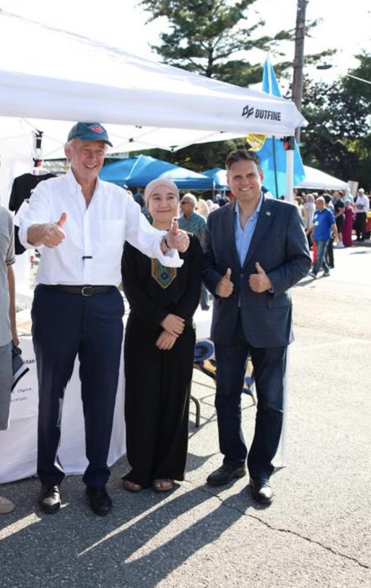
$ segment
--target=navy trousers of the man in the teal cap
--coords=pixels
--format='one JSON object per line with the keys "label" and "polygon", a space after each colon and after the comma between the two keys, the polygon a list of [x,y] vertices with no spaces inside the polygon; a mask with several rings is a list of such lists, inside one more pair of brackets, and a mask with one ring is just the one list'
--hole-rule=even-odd
{"label": "navy trousers of the man in the teal cap", "polygon": [[119,377],[124,305],[116,288],[95,296],[39,285],[32,305],[32,338],[39,384],[38,476],[54,486],[64,473],[58,460],[63,396],[80,360],[86,457],[83,481],[104,486]]}

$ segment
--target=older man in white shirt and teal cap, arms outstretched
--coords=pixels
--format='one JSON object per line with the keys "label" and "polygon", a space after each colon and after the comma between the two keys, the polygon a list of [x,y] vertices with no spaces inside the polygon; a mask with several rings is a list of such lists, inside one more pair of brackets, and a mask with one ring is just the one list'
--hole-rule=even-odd
{"label": "older man in white shirt and teal cap, arms outstretched", "polygon": [[83,482],[93,512],[107,515],[112,509],[107,455],[123,335],[117,285],[124,241],[166,266],[181,265],[176,249],[186,250],[189,242],[176,223],[167,233],[152,228],[122,188],[99,180],[107,144],[100,123],[76,123],[65,145],[70,170],[39,183],[20,219],[23,245],[42,249],[32,336],[39,382],[39,505],[46,513],[60,507],[60,422],[76,355],[89,462]]}

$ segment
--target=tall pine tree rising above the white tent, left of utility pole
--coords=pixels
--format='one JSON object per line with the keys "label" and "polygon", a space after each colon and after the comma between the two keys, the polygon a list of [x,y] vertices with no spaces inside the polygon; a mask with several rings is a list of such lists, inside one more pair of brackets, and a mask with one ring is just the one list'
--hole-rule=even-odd
{"label": "tall pine tree rising above the white tent, left of utility pole", "polygon": [[264,21],[251,26],[248,8],[256,0],[141,0],[140,5],[151,12],[150,21],[165,16],[170,32],[160,34],[161,45],[152,48],[168,65],[174,65],[208,78],[247,86],[259,82],[261,64],[240,58],[241,51],[274,49],[279,42],[292,38],[292,31],[279,31],[273,38],[258,36]]}

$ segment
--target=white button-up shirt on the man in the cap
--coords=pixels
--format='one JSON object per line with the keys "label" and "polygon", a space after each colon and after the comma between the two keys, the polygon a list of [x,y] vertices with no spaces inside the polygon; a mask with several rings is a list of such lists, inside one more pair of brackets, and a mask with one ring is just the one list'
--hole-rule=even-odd
{"label": "white button-up shirt on the man in the cap", "polygon": [[121,282],[124,241],[167,267],[179,267],[183,260],[176,250],[166,255],[160,243],[164,231],[154,229],[140,212],[140,206],[119,186],[97,179],[86,208],[81,186],[71,170],[59,178],[39,183],[29,204],[19,215],[19,239],[26,248],[30,226],[59,220],[62,212],[66,238],[53,248],[40,250],[36,283],[65,285],[112,285]]}

